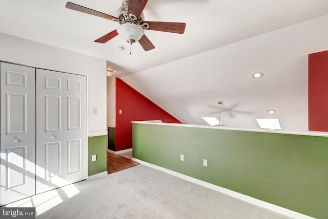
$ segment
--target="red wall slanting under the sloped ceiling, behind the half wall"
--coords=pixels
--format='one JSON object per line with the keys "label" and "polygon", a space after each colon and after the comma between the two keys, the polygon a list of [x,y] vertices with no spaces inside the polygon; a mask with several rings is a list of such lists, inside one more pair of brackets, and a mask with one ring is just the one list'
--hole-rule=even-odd
{"label": "red wall slanting under the sloped ceiling, behind the half wall", "polygon": [[[161,120],[181,123],[151,100],[116,78],[116,151],[132,148],[131,121]],[[122,109],[122,114],[119,114]]]}

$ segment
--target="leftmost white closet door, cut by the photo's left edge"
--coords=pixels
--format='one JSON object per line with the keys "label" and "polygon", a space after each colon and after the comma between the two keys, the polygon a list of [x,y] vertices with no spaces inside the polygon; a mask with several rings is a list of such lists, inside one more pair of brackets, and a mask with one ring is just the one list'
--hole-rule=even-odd
{"label": "leftmost white closet door, cut by the photo's left edge", "polygon": [[35,69],[0,63],[0,202],[35,194]]}

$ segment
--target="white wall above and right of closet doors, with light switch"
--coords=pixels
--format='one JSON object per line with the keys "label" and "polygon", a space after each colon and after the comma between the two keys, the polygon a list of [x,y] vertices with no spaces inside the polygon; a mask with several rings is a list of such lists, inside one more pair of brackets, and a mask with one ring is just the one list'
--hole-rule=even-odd
{"label": "white wall above and right of closet doors, with light switch", "polygon": [[[0,33],[0,60],[88,75],[89,134],[106,134],[106,60]],[[92,114],[92,108],[97,114]]]}

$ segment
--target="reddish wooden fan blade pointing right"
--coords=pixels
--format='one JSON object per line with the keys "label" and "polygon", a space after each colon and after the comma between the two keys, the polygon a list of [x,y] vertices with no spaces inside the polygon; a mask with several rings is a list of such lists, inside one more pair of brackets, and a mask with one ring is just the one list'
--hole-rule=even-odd
{"label": "reddish wooden fan blade pointing right", "polygon": [[185,33],[186,23],[176,22],[158,22],[158,21],[145,21],[149,24],[149,28],[146,30],[163,31],[170,33]]}

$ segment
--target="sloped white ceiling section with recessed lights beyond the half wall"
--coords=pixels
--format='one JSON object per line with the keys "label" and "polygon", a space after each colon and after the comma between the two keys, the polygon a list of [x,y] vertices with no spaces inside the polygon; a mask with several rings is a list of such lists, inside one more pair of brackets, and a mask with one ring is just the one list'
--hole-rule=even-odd
{"label": "sloped white ceiling section with recessed lights beyond the half wall", "polygon": [[[218,118],[226,127],[308,130],[308,54],[328,49],[328,15],[121,77],[184,123]],[[260,79],[251,77],[263,72]],[[276,109],[268,114],[267,109]]]}

